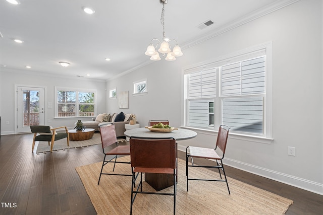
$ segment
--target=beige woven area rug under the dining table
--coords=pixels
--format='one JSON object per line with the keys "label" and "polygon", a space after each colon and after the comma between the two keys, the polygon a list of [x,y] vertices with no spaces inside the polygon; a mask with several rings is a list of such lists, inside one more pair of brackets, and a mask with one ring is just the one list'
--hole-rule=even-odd
{"label": "beige woven area rug under the dining table", "polygon": [[[120,158],[130,160],[130,157]],[[131,177],[102,175],[97,185],[102,163],[77,167],[83,185],[98,214],[130,214]],[[228,178],[231,194],[225,182],[189,181],[186,192],[185,161],[179,160],[176,196],[177,214],[284,214],[292,200]],[[105,172],[113,165],[105,166]],[[110,169],[109,169],[110,168]],[[129,164],[117,164],[115,172],[131,174]],[[190,177],[214,175],[211,170],[192,168]],[[137,179],[138,180],[138,179]],[[164,189],[167,192],[173,186]],[[147,183],[143,191],[154,191]],[[137,194],[133,214],[173,214],[173,196]]]}

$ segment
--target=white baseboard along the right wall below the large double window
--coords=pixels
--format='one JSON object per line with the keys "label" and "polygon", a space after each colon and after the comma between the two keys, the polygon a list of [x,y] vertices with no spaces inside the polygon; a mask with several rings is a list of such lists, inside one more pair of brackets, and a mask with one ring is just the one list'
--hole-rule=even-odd
{"label": "white baseboard along the right wall below the large double window", "polygon": [[[178,145],[178,150],[186,152],[186,146]],[[243,170],[243,171],[255,174],[255,175],[259,175],[259,176],[262,176],[262,177],[265,177],[268,179],[272,179],[274,181],[279,181],[284,184],[288,184],[288,185],[298,187],[303,190],[307,190],[307,191],[310,191],[313,193],[323,195],[323,184],[320,184],[317,182],[313,182],[313,181],[310,181],[307,179],[303,179],[303,178],[295,177],[295,176],[288,175],[285,173],[277,172],[274,170],[265,169],[262,167],[243,163],[243,162],[229,159],[229,158],[225,158],[223,160],[223,163],[225,165],[230,166],[230,167],[234,167],[234,168],[237,168],[237,169],[240,169],[240,170]]]}

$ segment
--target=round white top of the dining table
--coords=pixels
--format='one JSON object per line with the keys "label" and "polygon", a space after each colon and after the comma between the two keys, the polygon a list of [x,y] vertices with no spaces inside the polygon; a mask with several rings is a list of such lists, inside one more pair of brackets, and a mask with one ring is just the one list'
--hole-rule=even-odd
{"label": "round white top of the dining table", "polygon": [[178,128],[178,130],[173,130],[172,132],[152,132],[147,128],[135,128],[125,131],[125,136],[131,137],[145,137],[145,138],[167,138],[174,137],[176,140],[184,140],[194,138],[197,135],[195,131]]}

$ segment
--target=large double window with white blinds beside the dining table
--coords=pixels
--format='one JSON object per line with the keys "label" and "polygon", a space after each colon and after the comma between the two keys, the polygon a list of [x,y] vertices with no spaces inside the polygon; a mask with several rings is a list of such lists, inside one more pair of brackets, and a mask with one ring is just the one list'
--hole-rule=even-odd
{"label": "large double window with white blinds beside the dining table", "polygon": [[272,43],[238,53],[184,69],[184,126],[270,139]]}

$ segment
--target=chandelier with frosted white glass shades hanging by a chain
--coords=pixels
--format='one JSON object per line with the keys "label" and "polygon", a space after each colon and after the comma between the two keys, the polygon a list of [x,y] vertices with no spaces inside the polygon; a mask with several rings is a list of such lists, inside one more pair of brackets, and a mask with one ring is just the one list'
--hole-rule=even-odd
{"label": "chandelier with frosted white glass shades hanging by a chain", "polygon": [[[165,60],[176,60],[176,57],[182,56],[183,52],[181,51],[181,48],[177,45],[177,41],[174,39],[167,40],[165,37],[165,5],[168,3],[168,0],[159,0],[160,4],[163,5],[163,9],[161,10],[161,17],[160,17],[160,23],[163,26],[163,42],[160,40],[153,38],[150,41],[149,46],[147,47],[147,50],[145,52],[146,55],[151,56],[151,60],[160,60],[159,53],[163,54],[163,56],[166,56]],[[170,42],[175,41],[176,45],[171,49]],[[153,42],[157,42],[155,46],[153,45]],[[156,51],[157,47],[159,46],[158,51]],[[159,52],[159,53],[158,53]]]}

